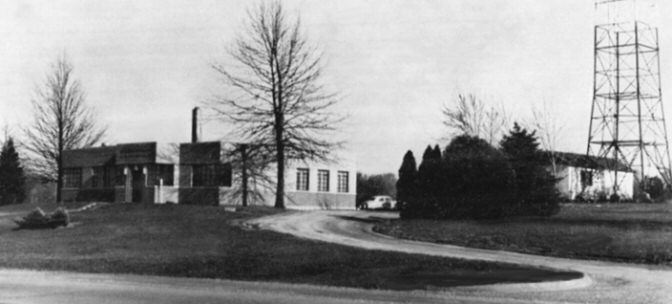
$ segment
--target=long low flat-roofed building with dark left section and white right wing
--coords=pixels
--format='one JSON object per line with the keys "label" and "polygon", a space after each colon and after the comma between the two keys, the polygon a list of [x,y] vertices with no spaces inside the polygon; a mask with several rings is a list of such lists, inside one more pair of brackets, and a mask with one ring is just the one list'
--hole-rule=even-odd
{"label": "long low flat-roofed building with dark left section and white right wing", "polygon": [[[241,169],[229,159],[235,144],[155,142],[63,152],[65,201],[239,205]],[[285,170],[288,209],[355,209],[356,167],[351,159],[293,161]],[[272,187],[249,200],[273,206],[275,168],[264,171]]]}

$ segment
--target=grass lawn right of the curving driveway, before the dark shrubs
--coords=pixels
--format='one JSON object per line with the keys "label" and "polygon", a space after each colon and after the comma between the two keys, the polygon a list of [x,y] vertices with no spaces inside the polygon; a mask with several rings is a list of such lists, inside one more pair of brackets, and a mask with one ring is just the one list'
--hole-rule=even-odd
{"label": "grass lawn right of the curving driveway, before the dark shrubs", "polygon": [[671,204],[566,204],[550,218],[389,221],[376,231],[467,247],[672,264]]}

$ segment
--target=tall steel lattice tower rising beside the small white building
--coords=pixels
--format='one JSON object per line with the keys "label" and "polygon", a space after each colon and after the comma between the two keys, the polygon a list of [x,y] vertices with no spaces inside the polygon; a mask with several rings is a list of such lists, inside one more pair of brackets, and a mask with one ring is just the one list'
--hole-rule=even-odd
{"label": "tall steel lattice tower rising beside the small white building", "polygon": [[[660,82],[658,28],[640,20],[636,0],[598,0],[595,26],[593,105],[587,155],[608,158],[613,170],[614,193],[625,164],[637,182],[660,176],[670,185],[668,148]],[[604,22],[606,21],[606,22]]]}

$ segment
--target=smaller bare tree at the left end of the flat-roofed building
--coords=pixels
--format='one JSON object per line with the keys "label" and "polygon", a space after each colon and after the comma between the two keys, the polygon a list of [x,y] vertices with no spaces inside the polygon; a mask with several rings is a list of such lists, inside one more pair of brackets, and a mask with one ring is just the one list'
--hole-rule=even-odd
{"label": "smaller bare tree at the left end of the flat-roofed building", "polygon": [[34,120],[25,129],[25,148],[32,154],[35,173],[56,182],[56,200],[61,202],[63,151],[98,143],[105,128],[96,126],[84,103],[84,92],[72,78],[72,66],[64,56],[53,64],[32,104]]}

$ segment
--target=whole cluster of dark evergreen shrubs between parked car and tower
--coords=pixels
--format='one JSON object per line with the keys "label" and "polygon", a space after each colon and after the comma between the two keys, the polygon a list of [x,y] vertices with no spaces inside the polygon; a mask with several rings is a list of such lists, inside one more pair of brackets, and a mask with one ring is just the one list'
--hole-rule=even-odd
{"label": "whole cluster of dark evergreen shrubs between parked car and tower", "polygon": [[546,170],[534,132],[518,125],[500,149],[468,135],[444,149],[427,147],[415,170],[407,152],[397,193],[402,218],[548,216],[559,211],[556,180]]}

